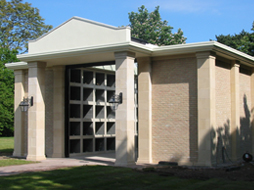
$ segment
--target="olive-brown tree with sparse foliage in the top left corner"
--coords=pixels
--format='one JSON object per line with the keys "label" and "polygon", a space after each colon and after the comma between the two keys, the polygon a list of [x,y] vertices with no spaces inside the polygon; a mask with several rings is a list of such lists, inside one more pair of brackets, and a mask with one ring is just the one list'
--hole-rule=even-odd
{"label": "olive-brown tree with sparse foliage in the top left corner", "polygon": [[37,8],[22,0],[0,0],[0,43],[10,50],[27,52],[28,40],[52,29],[45,25]]}

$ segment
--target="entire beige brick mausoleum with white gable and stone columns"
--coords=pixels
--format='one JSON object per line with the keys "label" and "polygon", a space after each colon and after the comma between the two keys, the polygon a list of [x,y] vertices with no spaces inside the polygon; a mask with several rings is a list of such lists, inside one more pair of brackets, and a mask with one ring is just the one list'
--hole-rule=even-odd
{"label": "entire beige brick mausoleum with white gable and stone columns", "polygon": [[18,59],[13,156],[213,166],[254,153],[254,58],[218,42],[159,47],[73,17]]}

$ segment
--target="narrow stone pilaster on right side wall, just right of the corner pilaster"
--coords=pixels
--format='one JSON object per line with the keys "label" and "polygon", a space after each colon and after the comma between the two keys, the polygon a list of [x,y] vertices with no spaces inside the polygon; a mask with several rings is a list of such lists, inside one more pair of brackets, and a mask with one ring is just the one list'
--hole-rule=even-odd
{"label": "narrow stone pilaster on right side wall, just right of the corner pilaster", "polygon": [[231,63],[231,144],[232,160],[237,160],[237,131],[240,129],[239,68],[236,61]]}

